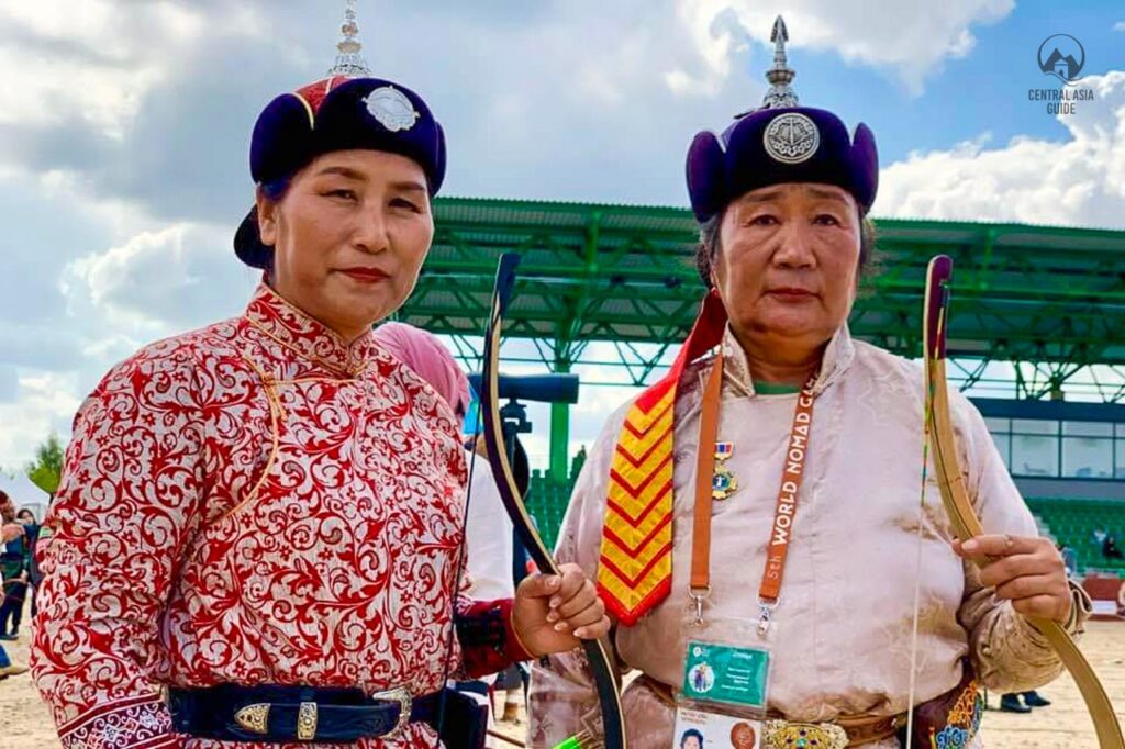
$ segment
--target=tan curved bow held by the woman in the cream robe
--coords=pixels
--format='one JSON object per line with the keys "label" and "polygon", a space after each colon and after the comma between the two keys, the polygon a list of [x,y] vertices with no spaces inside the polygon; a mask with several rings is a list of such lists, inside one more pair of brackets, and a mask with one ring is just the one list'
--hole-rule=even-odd
{"label": "tan curved bow held by the woman in the cream robe", "polygon": [[[945,376],[946,323],[950,305],[950,278],[953,261],[937,255],[929,262],[926,274],[926,306],[924,319],[925,373],[927,412],[932,419],[932,448],[937,471],[937,486],[942,504],[950,516],[954,532],[962,541],[981,535],[984,527],[973,508],[965,487],[964,473],[957,459],[956,435],[950,416],[948,383]],[[1059,622],[1028,617],[1059,655],[1066,670],[1078,685],[1086,707],[1094,720],[1094,728],[1101,749],[1125,749],[1125,738],[1097,674]]]}

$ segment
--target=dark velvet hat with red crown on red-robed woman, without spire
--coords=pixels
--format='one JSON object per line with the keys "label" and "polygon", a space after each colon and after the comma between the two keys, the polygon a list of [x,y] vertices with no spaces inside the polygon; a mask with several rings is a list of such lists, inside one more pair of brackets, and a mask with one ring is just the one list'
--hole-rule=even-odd
{"label": "dark velvet hat with red crown on red-robed woman, without spire", "polygon": [[[250,146],[250,173],[258,184],[292,177],[317,156],[369,148],[413,159],[425,173],[431,197],[446,178],[446,136],[422,97],[392,81],[331,75],[262,110]],[[254,268],[267,268],[273,251],[258,234],[251,209],[234,236],[234,251]]]}

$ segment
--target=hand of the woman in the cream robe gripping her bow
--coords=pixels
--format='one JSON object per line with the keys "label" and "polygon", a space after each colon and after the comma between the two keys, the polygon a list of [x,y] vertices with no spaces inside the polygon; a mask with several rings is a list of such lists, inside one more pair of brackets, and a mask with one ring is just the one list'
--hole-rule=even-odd
{"label": "hand of the woman in the cream robe gripping her bow", "polygon": [[953,550],[981,565],[981,583],[996,588],[999,598],[1024,616],[1065,624],[1073,599],[1066,566],[1051,539],[1041,536],[978,535]]}

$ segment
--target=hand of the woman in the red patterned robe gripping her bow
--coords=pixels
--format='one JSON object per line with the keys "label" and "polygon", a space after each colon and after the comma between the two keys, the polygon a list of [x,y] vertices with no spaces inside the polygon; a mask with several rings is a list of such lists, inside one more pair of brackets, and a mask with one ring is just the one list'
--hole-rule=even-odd
{"label": "hand of the woman in the red patterned robe gripping her bow", "polygon": [[515,592],[512,626],[536,658],[574,650],[579,640],[610,631],[605,605],[582,568],[561,565],[560,571],[526,577]]}

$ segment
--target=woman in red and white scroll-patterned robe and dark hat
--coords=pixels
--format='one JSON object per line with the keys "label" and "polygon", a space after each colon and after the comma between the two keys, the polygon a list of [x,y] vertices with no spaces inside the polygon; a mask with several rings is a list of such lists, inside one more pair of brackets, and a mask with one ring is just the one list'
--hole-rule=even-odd
{"label": "woman in red and white scroll-patterned robe and dark hat", "polygon": [[245,313],[142,349],[74,422],[32,656],[66,749],[433,747],[442,711],[454,746],[476,727],[447,678],[608,630],[574,566],[457,595],[459,423],[371,335],[444,170],[441,127],[388,81],[262,112]]}

